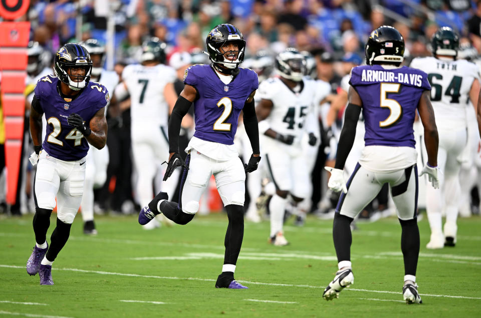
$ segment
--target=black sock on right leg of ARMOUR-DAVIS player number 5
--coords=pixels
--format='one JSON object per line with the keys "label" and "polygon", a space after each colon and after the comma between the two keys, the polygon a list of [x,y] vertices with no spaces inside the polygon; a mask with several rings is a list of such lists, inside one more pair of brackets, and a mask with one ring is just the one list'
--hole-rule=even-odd
{"label": "black sock on right leg of ARMOUR-DAVIS player number 5", "polygon": [[419,257],[419,228],[417,218],[399,220],[401,223],[401,250],[404,258],[404,274],[416,275],[417,259]]}

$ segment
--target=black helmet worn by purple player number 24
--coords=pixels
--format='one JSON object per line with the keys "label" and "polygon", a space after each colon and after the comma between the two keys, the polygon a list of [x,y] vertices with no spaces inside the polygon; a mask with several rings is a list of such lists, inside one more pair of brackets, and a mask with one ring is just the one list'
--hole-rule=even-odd
{"label": "black helmet worn by purple player number 24", "polygon": [[[70,67],[83,66],[85,68],[84,76],[69,75]],[[54,70],[57,77],[71,89],[79,90],[87,86],[90,81],[92,72],[92,59],[87,49],[79,43],[67,43],[57,50],[54,58]],[[71,77],[82,79],[81,81],[73,81]]]}

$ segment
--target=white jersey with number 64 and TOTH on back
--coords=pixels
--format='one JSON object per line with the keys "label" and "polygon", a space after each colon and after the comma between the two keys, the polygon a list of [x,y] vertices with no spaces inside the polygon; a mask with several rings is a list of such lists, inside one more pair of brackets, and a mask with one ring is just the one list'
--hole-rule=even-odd
{"label": "white jersey with number 64 and TOTH on back", "polygon": [[410,66],[428,74],[438,128],[465,127],[465,107],[468,106],[472,82],[479,80],[479,68],[464,59],[446,61],[432,56],[414,58]]}

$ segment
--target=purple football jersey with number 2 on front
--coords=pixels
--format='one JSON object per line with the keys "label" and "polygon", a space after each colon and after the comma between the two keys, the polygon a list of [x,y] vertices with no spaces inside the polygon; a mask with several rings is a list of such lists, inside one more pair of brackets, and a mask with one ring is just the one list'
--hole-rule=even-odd
{"label": "purple football jersey with number 2 on front", "polygon": [[210,65],[196,64],[185,70],[184,83],[194,86],[194,136],[207,141],[233,144],[239,113],[249,95],[259,86],[257,74],[239,68],[234,79],[224,84]]}

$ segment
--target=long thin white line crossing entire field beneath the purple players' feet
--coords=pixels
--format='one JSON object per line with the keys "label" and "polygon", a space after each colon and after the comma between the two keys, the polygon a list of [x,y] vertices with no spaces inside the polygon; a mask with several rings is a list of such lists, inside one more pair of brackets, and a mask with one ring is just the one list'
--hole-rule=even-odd
{"label": "long thin white line crossing entire field beneath the purple players' feet", "polygon": [[[25,269],[25,266],[6,265],[6,264],[0,264],[0,267]],[[118,275],[118,276],[143,277],[143,278],[158,278],[158,279],[183,279],[183,280],[200,280],[200,281],[215,281],[215,280],[216,280],[216,279],[197,278],[197,277],[169,277],[169,276],[141,275],[141,274],[130,274],[130,273],[112,272],[112,271],[86,270],[86,269],[79,269],[79,268],[55,268],[55,270],[67,270],[67,271],[76,271],[76,272],[84,272],[84,273],[95,273],[95,274],[104,274],[104,275]],[[321,289],[324,289],[324,288],[325,288],[325,286],[285,284],[285,283],[275,283],[275,282],[274,282],[274,283],[273,283],[273,282],[260,282],[260,281],[249,281],[249,280],[238,280],[238,279],[236,279],[236,281],[242,282],[242,283],[246,283],[246,284],[254,284],[254,285],[301,287],[301,288],[307,287],[307,288],[321,288]],[[400,293],[401,293],[400,291],[357,289],[357,288],[351,288],[351,287],[346,288],[346,290],[363,291],[363,292],[377,292],[377,293],[394,293],[394,294],[400,294]],[[421,296],[447,297],[447,298],[463,298],[463,299],[477,299],[477,300],[481,300],[481,297],[453,296],[453,295],[437,295],[437,294],[426,294],[426,293],[421,293]]]}

